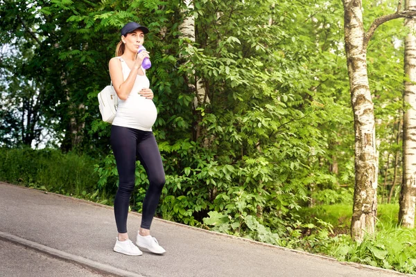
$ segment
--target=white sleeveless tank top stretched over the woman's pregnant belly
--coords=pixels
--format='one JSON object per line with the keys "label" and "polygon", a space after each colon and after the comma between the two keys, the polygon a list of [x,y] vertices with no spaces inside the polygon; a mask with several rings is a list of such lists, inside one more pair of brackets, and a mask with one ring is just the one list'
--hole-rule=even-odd
{"label": "white sleeveless tank top stretched over the woman's pregnant belly", "polygon": [[[123,78],[126,80],[130,74],[130,68],[121,57],[118,58],[123,69]],[[144,72],[144,75],[136,76],[135,84],[128,98],[125,100],[119,98],[119,107],[112,125],[151,132],[157,118],[157,109],[153,100],[139,95],[141,89],[150,87],[145,69],[141,67],[141,70]]]}

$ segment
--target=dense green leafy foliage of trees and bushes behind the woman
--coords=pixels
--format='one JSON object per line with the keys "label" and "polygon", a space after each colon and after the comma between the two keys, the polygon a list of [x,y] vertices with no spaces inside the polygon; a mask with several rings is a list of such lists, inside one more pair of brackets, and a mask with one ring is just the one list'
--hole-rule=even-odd
{"label": "dense green leafy foliage of trees and bushes behind the woman", "polygon": [[[303,213],[308,206],[352,202],[354,128],[340,1],[196,0],[192,10],[162,0],[0,3],[3,157],[37,155],[6,150],[23,145],[88,155],[96,166],[86,174],[92,179],[85,194],[95,201],[107,195],[111,204],[117,172],[96,95],[110,82],[107,63],[119,29],[139,21],[150,28],[148,76],[159,111],[153,129],[166,170],[158,215],[321,252],[338,231],[348,232]],[[394,5],[365,1],[365,27]],[[180,33],[191,16],[196,42]],[[368,53],[384,202],[401,181],[402,24],[381,26]],[[195,107],[190,84],[198,80],[209,102]],[[49,151],[38,155],[59,155]],[[28,184],[43,184],[39,170]],[[8,181],[28,179],[0,172]],[[139,164],[136,184],[132,208],[141,211],[147,179]]]}

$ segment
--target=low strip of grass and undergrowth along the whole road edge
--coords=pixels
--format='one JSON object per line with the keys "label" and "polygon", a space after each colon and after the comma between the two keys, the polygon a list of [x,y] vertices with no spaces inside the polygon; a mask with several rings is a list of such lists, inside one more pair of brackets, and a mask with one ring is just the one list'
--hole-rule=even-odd
{"label": "low strip of grass and undergrowth along the whole road edge", "polygon": [[[111,160],[110,157],[108,160]],[[100,163],[102,167],[98,166]],[[105,161],[75,153],[62,154],[59,150],[1,148],[0,181],[112,206],[117,182],[112,164],[113,161],[107,161],[105,169]],[[132,211],[140,213],[141,200],[146,191],[146,176],[138,167],[139,181],[130,207]],[[107,176],[107,179],[100,179],[100,175]],[[172,176],[167,176],[167,179],[175,181]],[[176,187],[177,184],[180,183],[175,183]],[[288,213],[281,213],[278,218],[261,221],[261,217],[247,213],[251,205],[248,200],[252,197],[244,195],[241,190],[237,195],[231,191],[230,197],[235,195],[236,199],[227,200],[228,211],[241,212],[216,212],[224,210],[221,201],[216,202],[219,206],[209,206],[211,211],[205,214],[202,214],[201,209],[201,215],[196,218],[196,204],[189,203],[186,197],[168,195],[168,190],[173,188],[169,188],[168,184],[166,186],[157,210],[157,216],[165,220],[319,253],[341,261],[416,274],[416,230],[402,229],[397,225],[397,199],[394,199],[395,203],[379,205],[376,235],[366,236],[363,242],[358,243],[349,235],[352,191],[345,188],[333,193],[332,199],[328,195],[324,197],[326,202],[332,204],[297,207],[289,209]],[[203,203],[205,199],[201,196],[194,201]]]}

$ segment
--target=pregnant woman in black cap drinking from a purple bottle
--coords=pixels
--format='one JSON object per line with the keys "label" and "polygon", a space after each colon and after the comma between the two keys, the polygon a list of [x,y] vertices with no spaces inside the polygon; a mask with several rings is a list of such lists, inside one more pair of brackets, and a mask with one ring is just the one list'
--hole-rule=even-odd
{"label": "pregnant woman in black cap drinking from a purple bottle", "polygon": [[135,167],[139,160],[148,175],[150,186],[143,202],[141,226],[136,244],[153,253],[165,253],[157,240],[150,235],[150,224],[159,203],[165,183],[164,168],[152,126],[157,118],[153,103],[153,91],[146,70],[141,66],[149,57],[147,51],[137,54],[144,43],[148,28],[129,22],[121,29],[121,42],[116,48],[116,57],[110,60],[110,76],[119,96],[119,107],[111,127],[111,145],[119,172],[119,189],[114,199],[114,215],[117,231],[114,251],[130,256],[142,252],[128,238],[127,215],[130,195],[135,188]]}

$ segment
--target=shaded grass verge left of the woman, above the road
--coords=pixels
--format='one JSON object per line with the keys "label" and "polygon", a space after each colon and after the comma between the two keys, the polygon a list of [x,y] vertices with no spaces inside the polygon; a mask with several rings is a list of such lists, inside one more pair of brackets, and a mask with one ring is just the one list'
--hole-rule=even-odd
{"label": "shaded grass verge left of the woman, above the road", "polygon": [[107,204],[94,159],[59,150],[0,148],[0,181]]}

